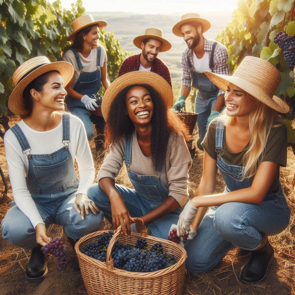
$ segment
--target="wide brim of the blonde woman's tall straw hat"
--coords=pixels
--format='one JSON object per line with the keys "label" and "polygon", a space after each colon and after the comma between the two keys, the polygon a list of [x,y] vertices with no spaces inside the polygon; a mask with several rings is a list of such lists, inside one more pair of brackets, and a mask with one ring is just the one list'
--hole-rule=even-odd
{"label": "wide brim of the blonde woman's tall straw hat", "polygon": [[255,99],[266,104],[271,109],[279,113],[286,114],[289,112],[289,105],[277,96],[269,96],[263,89],[255,87],[253,83],[246,81],[243,78],[237,76],[225,76],[215,74],[209,71],[205,71],[206,76],[215,84],[219,89],[227,91],[227,87],[230,83],[238,86],[239,88],[245,90],[247,93],[255,97]]}

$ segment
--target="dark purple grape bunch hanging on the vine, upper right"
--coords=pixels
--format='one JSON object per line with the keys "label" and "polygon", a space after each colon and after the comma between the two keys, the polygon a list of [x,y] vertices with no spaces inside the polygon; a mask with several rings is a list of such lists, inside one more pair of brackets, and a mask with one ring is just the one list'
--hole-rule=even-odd
{"label": "dark purple grape bunch hanging on the vine, upper right", "polygon": [[278,44],[278,47],[283,48],[284,58],[289,65],[289,69],[293,71],[295,66],[295,37],[288,36],[287,33],[281,31],[276,33],[273,42]]}

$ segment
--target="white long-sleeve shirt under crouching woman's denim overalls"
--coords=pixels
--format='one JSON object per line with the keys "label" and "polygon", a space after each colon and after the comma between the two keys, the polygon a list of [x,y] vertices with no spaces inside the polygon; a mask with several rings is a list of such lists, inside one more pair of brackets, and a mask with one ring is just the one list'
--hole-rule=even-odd
{"label": "white long-sleeve shirt under crouching woman's denim overalls", "polygon": [[[62,120],[57,127],[44,132],[33,130],[23,120],[17,124],[29,142],[31,154],[50,154],[64,146]],[[22,148],[11,130],[5,133],[4,145],[14,201],[35,228],[38,223],[44,224],[44,222],[27,189],[26,175],[29,168],[27,155],[22,153]],[[95,177],[94,164],[84,125],[73,115],[70,115],[69,151],[73,161],[76,158],[79,167],[80,183],[76,194],[87,195],[87,190]]]}

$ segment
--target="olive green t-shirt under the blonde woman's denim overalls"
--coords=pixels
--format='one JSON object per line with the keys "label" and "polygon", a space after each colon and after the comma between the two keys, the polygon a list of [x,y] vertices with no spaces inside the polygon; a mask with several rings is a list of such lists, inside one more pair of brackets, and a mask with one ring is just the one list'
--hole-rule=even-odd
{"label": "olive green t-shirt under the blonde woman's denim overalls", "polygon": [[[209,154],[211,158],[217,160],[217,152],[215,151],[215,137],[216,137],[216,124],[214,120],[208,127],[207,134],[201,143],[202,147]],[[225,136],[224,127],[224,136]],[[243,156],[249,149],[249,142],[245,148],[239,153],[231,153],[225,145],[223,145],[222,152],[220,153],[222,160],[229,165],[243,166]],[[287,130],[286,127],[273,127],[268,135],[266,141],[266,148],[261,162],[274,162],[280,164],[280,166],[286,167],[287,164]],[[253,181],[253,177],[249,178],[250,184]],[[273,180],[273,184],[268,193],[277,190],[278,182],[280,178],[280,168]]]}

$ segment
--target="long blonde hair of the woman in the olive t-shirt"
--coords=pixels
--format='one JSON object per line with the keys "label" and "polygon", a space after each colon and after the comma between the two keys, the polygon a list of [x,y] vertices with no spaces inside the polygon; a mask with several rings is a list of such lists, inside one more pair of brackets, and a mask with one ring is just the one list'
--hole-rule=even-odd
{"label": "long blonde hair of the woman in the olive t-shirt", "polygon": [[[232,125],[237,122],[237,117],[230,117],[226,114],[226,109],[221,112],[219,120],[224,126]],[[261,163],[266,149],[266,142],[272,127],[286,126],[287,124],[278,117],[278,113],[266,104],[258,101],[250,113],[250,142],[249,148],[243,156],[243,175],[242,178],[255,175]]]}

